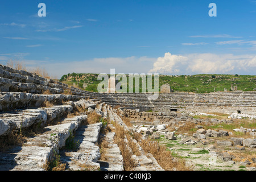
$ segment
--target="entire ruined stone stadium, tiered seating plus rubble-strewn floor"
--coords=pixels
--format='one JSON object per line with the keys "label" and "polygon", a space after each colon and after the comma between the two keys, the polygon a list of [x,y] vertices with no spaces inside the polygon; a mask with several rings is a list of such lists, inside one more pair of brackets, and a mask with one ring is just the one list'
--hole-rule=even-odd
{"label": "entire ruined stone stadium, tiered seating plus rubble-strewn floor", "polygon": [[[209,155],[215,156],[225,164],[236,163],[234,169],[239,169],[238,166],[244,163],[244,166],[247,165],[246,169],[255,170],[255,127],[241,126],[233,132],[246,134],[246,137],[232,137],[232,132],[225,129],[216,131],[201,125],[229,125],[236,118],[250,118],[249,122],[255,123],[256,91],[204,94],[167,92],[159,93],[156,100],[148,100],[149,93],[87,92],[5,65],[0,65],[0,91],[0,143],[3,146],[6,146],[5,142],[14,133],[34,131],[39,127],[42,129],[32,137],[28,135],[22,144],[12,144],[0,151],[2,171],[47,170],[47,163],[56,156],[65,164],[65,170],[125,170],[123,152],[114,142],[115,131],[109,130],[102,134],[101,129],[106,127],[104,123],[86,123],[90,113],[108,118],[125,131],[142,134],[142,139],[176,142],[177,145],[172,149],[175,146],[192,146],[187,148],[192,151],[190,155],[207,151],[207,154],[202,153],[207,155],[207,160]],[[208,114],[212,118],[205,119],[192,117],[207,113],[229,114],[229,118],[216,119],[214,114]],[[124,118],[129,118],[132,125],[127,125]],[[177,135],[176,131],[187,123],[195,125],[193,134]],[[116,126],[110,125],[113,128]],[[104,152],[104,159],[101,158],[98,145],[102,142],[99,139],[101,135],[104,135],[109,146]],[[78,141],[78,148],[73,151],[65,150],[67,141],[72,137]],[[123,139],[126,144],[129,143],[128,140],[126,136]],[[133,170],[168,170],[161,166],[156,156],[143,150],[140,140],[131,141],[139,150],[137,155],[131,152],[135,161]],[[128,144],[127,147],[129,148]],[[254,153],[248,159],[235,162],[235,156],[225,148]],[[176,170],[175,167],[172,169]]]}

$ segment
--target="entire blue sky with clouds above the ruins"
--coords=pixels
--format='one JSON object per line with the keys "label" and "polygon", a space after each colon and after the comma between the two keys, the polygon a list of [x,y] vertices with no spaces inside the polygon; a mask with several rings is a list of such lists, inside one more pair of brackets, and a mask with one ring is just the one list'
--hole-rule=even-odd
{"label": "entire blue sky with clouds above the ruins", "polygon": [[[46,4],[46,17],[38,4]],[[209,3],[217,17],[210,17]],[[67,73],[255,75],[256,1],[1,1],[0,63]]]}

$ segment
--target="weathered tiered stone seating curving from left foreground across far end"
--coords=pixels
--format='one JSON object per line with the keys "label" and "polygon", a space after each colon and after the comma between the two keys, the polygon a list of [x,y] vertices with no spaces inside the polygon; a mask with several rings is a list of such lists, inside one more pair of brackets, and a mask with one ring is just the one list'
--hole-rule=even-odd
{"label": "weathered tiered stone seating curving from left foreground across far end", "polygon": [[[75,131],[76,137],[81,141],[79,150],[69,151],[68,158],[61,156],[69,169],[80,170],[86,163],[102,170],[123,170],[121,152],[113,143],[114,133],[106,136],[112,145],[106,155],[117,160],[99,161],[101,154],[97,142],[102,123],[81,125],[88,118],[87,113],[67,118],[77,107],[96,111],[104,118],[109,117],[112,121],[121,123],[126,130],[130,129],[115,113],[115,109],[112,109],[114,106],[119,106],[118,110],[122,115],[136,118],[144,125],[156,126],[188,119],[187,115],[175,112],[179,110],[256,114],[256,92],[159,93],[156,100],[148,100],[150,93],[86,92],[4,65],[0,65],[0,91],[0,142],[14,130],[39,126],[46,130],[41,135],[29,138],[23,146],[0,152],[1,170],[44,170],[43,166],[56,152],[60,152],[65,141]],[[51,105],[45,107],[47,102]],[[59,120],[60,124],[51,125]],[[170,138],[174,138],[173,134]],[[138,161],[136,169],[162,170],[152,155],[144,154],[143,151],[141,153],[141,156],[134,156]]]}

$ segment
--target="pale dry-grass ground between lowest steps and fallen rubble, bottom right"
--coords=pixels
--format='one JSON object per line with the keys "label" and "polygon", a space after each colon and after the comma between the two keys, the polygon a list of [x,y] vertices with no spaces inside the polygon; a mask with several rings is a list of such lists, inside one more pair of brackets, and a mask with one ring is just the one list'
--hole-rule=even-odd
{"label": "pale dry-grass ground between lowest steps and fallen rubble, bottom right", "polygon": [[247,171],[250,168],[241,162],[234,162],[233,160],[224,162],[216,153],[218,151],[232,150],[232,148],[217,147],[216,150],[209,151],[207,150],[209,144],[203,145],[201,142],[193,145],[179,144],[180,140],[180,138],[168,140],[162,135],[159,142],[164,144],[167,150],[172,152],[173,156],[184,158],[187,164],[191,165],[195,171]]}

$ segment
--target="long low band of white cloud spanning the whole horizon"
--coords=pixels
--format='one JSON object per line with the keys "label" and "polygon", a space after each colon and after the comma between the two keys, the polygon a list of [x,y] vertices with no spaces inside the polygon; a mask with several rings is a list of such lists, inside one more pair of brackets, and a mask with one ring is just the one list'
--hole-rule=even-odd
{"label": "long low band of white cloud spanning the whole horizon", "polygon": [[159,73],[166,75],[195,74],[240,74],[255,75],[256,55],[233,55],[214,53],[192,53],[172,55],[167,52],[163,57],[130,56],[104,57],[83,61],[58,62],[51,58],[45,60],[27,60],[29,53],[3,53],[0,60],[13,57],[22,59],[26,68],[46,68],[49,75],[61,76],[67,73]]}

